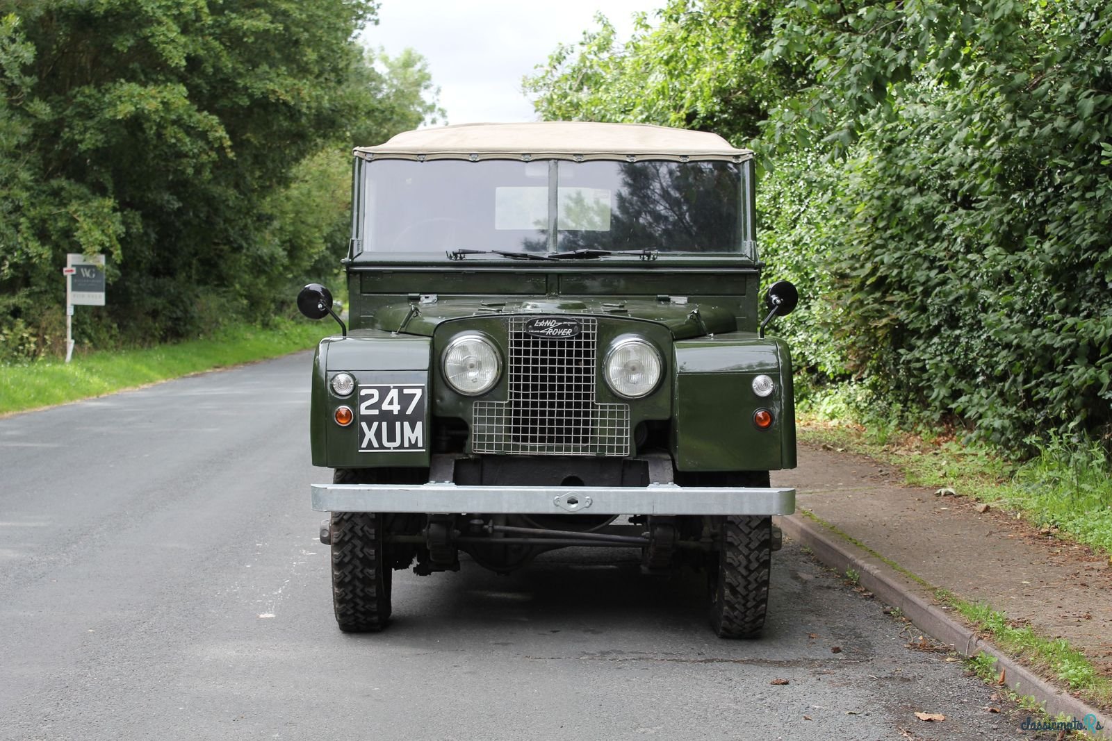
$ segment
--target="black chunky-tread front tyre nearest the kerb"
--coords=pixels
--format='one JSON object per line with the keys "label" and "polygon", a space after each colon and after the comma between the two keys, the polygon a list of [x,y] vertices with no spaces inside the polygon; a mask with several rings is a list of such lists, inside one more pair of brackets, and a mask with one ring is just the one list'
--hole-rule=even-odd
{"label": "black chunky-tread front tyre nearest the kerb", "polygon": [[711,627],[719,638],[757,638],[768,608],[772,518],[718,518],[722,549],[709,573]]}

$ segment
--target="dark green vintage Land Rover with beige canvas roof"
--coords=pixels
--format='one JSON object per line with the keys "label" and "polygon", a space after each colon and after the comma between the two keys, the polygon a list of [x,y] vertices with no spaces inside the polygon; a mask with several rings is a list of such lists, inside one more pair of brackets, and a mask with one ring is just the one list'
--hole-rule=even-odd
{"label": "dark green vintage Land Rover with beige canvas roof", "polygon": [[[564,547],[707,573],[722,637],[761,632],[771,515],[795,490],[792,366],[764,338],[752,152],[705,132],[583,122],[423,129],[355,150],[350,331],[314,362],[334,483],[336,619],[375,631],[393,569],[498,572]],[[763,320],[763,321],[762,321]],[[619,520],[620,518],[620,520]]]}

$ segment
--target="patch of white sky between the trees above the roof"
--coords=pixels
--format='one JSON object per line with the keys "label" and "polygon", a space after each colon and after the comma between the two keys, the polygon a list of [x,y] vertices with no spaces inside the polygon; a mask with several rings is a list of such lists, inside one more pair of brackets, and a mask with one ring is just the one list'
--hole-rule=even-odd
{"label": "patch of white sky between the trees above the roof", "polygon": [[633,13],[665,0],[381,0],[367,46],[395,56],[411,47],[428,60],[448,123],[533,121],[522,78],[559,43],[579,40],[605,14],[625,40]]}

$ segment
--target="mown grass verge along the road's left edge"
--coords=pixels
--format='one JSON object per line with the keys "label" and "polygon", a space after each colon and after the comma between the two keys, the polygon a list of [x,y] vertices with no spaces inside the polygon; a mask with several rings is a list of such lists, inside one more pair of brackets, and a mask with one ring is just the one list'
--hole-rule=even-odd
{"label": "mown grass verge along the road's left edge", "polygon": [[51,407],[216,368],[276,358],[314,347],[334,328],[286,320],[261,329],[230,326],[175,344],[91,352],[61,360],[0,366],[0,414]]}

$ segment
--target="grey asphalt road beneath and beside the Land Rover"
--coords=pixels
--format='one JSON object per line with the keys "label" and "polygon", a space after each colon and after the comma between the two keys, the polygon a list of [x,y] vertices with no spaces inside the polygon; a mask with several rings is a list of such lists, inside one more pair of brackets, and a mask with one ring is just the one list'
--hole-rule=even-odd
{"label": "grey asphalt road beneath and beside the Land Rover", "polygon": [[341,634],[309,371],[0,419],[0,738],[1037,738],[794,543],[759,641],[709,632],[697,575],[610,550],[396,572],[390,629]]}

